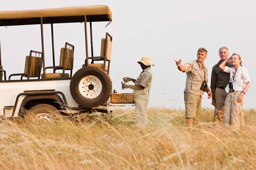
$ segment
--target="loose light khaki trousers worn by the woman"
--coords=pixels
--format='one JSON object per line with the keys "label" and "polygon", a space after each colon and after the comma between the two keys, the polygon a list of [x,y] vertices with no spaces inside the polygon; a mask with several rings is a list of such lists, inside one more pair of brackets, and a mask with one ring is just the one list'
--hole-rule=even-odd
{"label": "loose light khaki trousers worn by the woman", "polygon": [[241,112],[242,103],[237,103],[237,98],[241,91],[228,92],[225,100],[225,108],[223,111],[223,123],[230,124],[239,128],[243,125],[243,112]]}

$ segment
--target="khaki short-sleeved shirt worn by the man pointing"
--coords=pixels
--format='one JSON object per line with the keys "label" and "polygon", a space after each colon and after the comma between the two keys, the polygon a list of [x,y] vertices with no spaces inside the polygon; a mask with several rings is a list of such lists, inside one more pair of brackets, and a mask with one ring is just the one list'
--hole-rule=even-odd
{"label": "khaki short-sleeved shirt worn by the man pointing", "polygon": [[200,95],[204,94],[200,87],[205,81],[208,82],[208,70],[203,64],[198,61],[189,61],[184,64],[186,72],[186,87],[184,92],[189,92],[190,94]]}

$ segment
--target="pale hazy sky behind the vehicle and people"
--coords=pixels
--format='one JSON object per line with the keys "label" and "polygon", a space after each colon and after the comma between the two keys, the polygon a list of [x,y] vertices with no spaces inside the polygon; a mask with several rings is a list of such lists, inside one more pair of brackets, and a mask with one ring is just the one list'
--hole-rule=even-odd
{"label": "pale hazy sky behind the vehicle and people", "polygon": [[[143,56],[150,56],[155,66],[152,67],[153,83],[150,106],[184,108],[183,90],[186,74],[179,72],[174,59],[182,63],[196,59],[199,47],[208,50],[205,60],[209,70],[220,59],[218,49],[227,46],[230,53],[241,54],[243,66],[249,71],[252,84],[245,95],[244,108],[255,108],[255,2],[254,1],[85,1],[85,0],[9,0],[1,4],[0,10],[21,10],[57,8],[68,6],[108,5],[113,21],[94,25],[95,53],[100,53],[100,39],[105,32],[113,36],[110,77],[113,89],[121,90],[122,77],[137,78],[141,72],[137,61]],[[28,31],[29,30],[29,31]],[[51,64],[50,26],[44,26],[46,66]],[[7,74],[22,73],[25,56],[30,50],[41,49],[40,26],[10,26],[0,28],[2,64]],[[55,26],[56,56],[65,42],[75,46],[75,70],[84,61],[83,26],[66,24]],[[49,42],[49,43],[48,43]],[[20,45],[22,43],[22,45]],[[19,51],[19,52],[18,52]],[[7,57],[8,56],[8,57]],[[17,59],[20,56],[19,59]],[[10,61],[17,61],[10,64]],[[21,64],[22,63],[22,64]],[[58,58],[56,57],[56,63]],[[10,68],[12,66],[12,68]],[[209,82],[210,83],[210,82]],[[211,100],[205,94],[202,107],[210,107]]]}

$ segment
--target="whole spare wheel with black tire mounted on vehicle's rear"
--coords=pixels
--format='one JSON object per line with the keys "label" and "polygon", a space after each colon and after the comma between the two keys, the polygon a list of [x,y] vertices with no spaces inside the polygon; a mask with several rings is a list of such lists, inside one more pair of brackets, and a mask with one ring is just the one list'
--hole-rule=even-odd
{"label": "whole spare wheel with black tire mounted on vehicle's rear", "polygon": [[70,92],[74,101],[87,108],[103,105],[109,99],[111,90],[109,75],[97,67],[79,69],[70,81]]}

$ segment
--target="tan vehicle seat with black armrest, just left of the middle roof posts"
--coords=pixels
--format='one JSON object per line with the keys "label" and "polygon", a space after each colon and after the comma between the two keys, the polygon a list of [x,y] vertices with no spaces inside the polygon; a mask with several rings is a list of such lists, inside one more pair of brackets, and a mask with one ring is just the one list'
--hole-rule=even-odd
{"label": "tan vehicle seat with black armrest, just left of the middle roof posts", "polygon": [[[35,53],[35,56],[32,56],[32,54]],[[25,69],[24,73],[17,73],[17,74],[10,74],[9,80],[12,76],[19,76],[20,80],[23,79],[23,77],[29,78],[40,78],[42,69],[42,52],[33,51],[31,50],[29,53],[29,56],[26,56],[25,60]]]}

